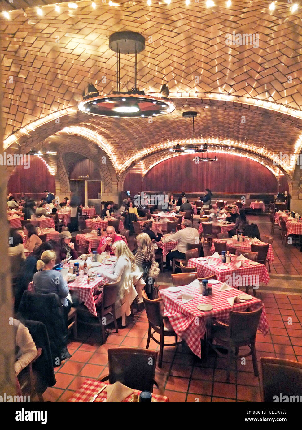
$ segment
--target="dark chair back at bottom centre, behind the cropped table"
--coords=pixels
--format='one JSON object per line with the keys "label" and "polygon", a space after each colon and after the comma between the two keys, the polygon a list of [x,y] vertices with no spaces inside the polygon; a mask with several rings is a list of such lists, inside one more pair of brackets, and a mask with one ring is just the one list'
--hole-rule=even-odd
{"label": "dark chair back at bottom centre, behind the cropped table", "polygon": [[[151,359],[151,360],[150,360]],[[110,348],[108,350],[109,384],[121,382],[134,390],[153,393],[157,352],[142,348]]]}

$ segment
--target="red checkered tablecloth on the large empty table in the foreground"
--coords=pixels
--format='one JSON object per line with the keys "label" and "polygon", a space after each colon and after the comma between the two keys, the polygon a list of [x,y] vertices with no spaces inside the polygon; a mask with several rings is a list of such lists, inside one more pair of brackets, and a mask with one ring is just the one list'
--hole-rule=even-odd
{"label": "red checkered tablecloth on the large empty table in the foreground", "polygon": [[[177,293],[169,292],[167,289],[161,289],[160,295],[165,304],[164,315],[168,316],[174,332],[177,333],[193,351],[194,354],[201,357],[200,339],[204,337],[206,331],[206,321],[209,318],[218,318],[224,322],[228,320],[230,310],[244,311],[247,308],[256,310],[262,305],[262,301],[253,297],[243,303],[235,303],[231,306],[227,298],[240,295],[240,292],[233,288],[228,291],[218,291],[221,284],[212,285],[212,296],[203,296],[199,293],[199,287],[181,286],[181,291]],[[177,298],[181,293],[190,294],[194,297],[188,303],[183,303]],[[211,304],[213,309],[210,311],[201,311],[197,309],[199,304]],[[265,308],[262,308],[262,314],[258,324],[258,330],[265,336],[268,332],[268,320]]]}

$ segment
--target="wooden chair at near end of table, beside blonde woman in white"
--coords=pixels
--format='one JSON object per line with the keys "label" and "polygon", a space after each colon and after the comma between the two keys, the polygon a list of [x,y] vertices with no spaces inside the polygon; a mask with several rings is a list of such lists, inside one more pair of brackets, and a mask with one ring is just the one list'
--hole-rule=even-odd
{"label": "wooden chair at near end of table, beside blonde woman in white", "polygon": [[[97,316],[93,316],[84,304],[77,307],[78,321],[86,326],[99,327],[101,329],[102,341],[105,343],[105,326],[114,322],[115,333],[118,333],[118,325],[115,317],[115,301],[118,297],[118,288],[121,278],[115,283],[104,284],[102,293],[101,309],[97,311]],[[109,318],[109,315],[111,318]],[[106,317],[106,318],[104,318]],[[104,324],[106,322],[106,324]]]}

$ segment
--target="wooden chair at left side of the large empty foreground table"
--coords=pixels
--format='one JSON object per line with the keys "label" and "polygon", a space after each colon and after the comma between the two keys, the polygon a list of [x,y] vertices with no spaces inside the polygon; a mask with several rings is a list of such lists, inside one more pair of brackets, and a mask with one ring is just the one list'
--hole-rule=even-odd
{"label": "wooden chair at left side of the large empty foreground table", "polygon": [[[149,322],[146,349],[149,348],[150,339],[152,338],[152,340],[159,345],[159,367],[162,367],[162,356],[164,352],[164,347],[174,347],[179,345],[181,342],[177,342],[177,334],[174,332],[168,318],[162,316],[162,299],[157,298],[155,300],[149,300],[146,295],[146,292],[143,291],[143,303],[145,305],[146,314]],[[160,335],[159,341],[153,336],[154,333],[158,333]],[[165,344],[165,336],[174,336],[175,342],[173,344]]]}

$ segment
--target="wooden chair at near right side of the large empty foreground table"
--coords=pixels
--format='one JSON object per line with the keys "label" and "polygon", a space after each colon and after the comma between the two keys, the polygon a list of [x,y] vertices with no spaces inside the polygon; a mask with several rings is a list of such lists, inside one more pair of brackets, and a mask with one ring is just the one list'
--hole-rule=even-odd
{"label": "wooden chair at near right side of the large empty foreground table", "polygon": [[[230,310],[228,324],[217,319],[214,320],[212,332],[209,336],[209,343],[218,356],[225,357],[225,354],[221,353],[219,348],[227,349],[227,382],[230,380],[232,357],[236,360],[252,355],[254,375],[259,375],[255,340],[262,308],[263,306],[252,312],[235,312],[234,310]],[[246,354],[239,354],[239,348],[245,346],[248,346],[250,351]]]}

